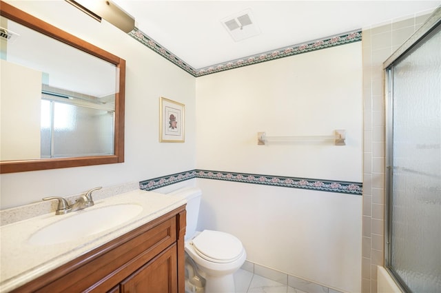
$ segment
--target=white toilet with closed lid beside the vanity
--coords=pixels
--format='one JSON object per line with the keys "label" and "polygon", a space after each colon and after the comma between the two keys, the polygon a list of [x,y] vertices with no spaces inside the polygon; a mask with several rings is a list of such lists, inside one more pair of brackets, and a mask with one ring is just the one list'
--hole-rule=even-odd
{"label": "white toilet with closed lid beside the vanity", "polygon": [[[233,274],[247,259],[247,253],[240,242],[232,234],[203,230],[196,231],[199,205],[202,192],[199,188],[182,188],[171,194],[187,199],[187,228],[185,232],[185,252],[190,260],[188,267],[196,263],[196,272],[190,272],[205,279],[205,293],[236,292]],[[191,267],[190,267],[190,270]],[[192,278],[193,276],[190,276]],[[203,283],[203,282],[201,282]],[[198,290],[192,289],[194,292]]]}

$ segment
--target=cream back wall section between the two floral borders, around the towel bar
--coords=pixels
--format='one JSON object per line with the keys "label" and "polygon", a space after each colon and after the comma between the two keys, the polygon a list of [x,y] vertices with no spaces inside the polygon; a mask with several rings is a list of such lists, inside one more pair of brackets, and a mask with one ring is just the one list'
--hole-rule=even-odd
{"label": "cream back wall section between the two floral borders, around the towel bar", "polygon": [[[361,43],[196,79],[199,169],[362,179]],[[268,136],[347,130],[347,145],[257,145]],[[216,155],[214,155],[216,154]]]}

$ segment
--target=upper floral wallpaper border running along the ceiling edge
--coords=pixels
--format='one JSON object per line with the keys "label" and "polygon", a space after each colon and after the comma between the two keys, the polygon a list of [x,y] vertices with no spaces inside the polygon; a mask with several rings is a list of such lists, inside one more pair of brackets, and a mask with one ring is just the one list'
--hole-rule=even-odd
{"label": "upper floral wallpaper border running along the ceiling edge", "polygon": [[161,46],[152,38],[148,37],[147,34],[141,32],[141,30],[139,30],[138,28],[134,28],[132,32],[129,32],[129,35],[134,39],[136,39],[137,41],[143,43],[143,45],[147,46],[148,48],[154,50],[154,52],[160,54],[165,59],[171,61],[175,65],[178,65],[180,68],[182,68],[189,74],[192,74],[194,77],[201,77],[207,74],[212,74],[234,68],[240,68],[243,66],[279,59],[283,57],[289,57],[296,54],[302,54],[325,48],[345,45],[347,43],[361,41],[361,37],[362,37],[361,30],[355,30],[352,32],[346,32],[338,36],[327,37],[324,39],[309,41],[307,43],[301,43],[293,46],[287,46],[284,48],[279,48],[277,50],[255,54],[249,57],[245,57],[243,59],[236,59],[225,63],[219,63],[216,65],[207,66],[205,68],[195,69],[192,68],[192,66],[188,65],[187,63],[185,63],[179,57],[176,57],[176,55],[172,54],[172,52]]}

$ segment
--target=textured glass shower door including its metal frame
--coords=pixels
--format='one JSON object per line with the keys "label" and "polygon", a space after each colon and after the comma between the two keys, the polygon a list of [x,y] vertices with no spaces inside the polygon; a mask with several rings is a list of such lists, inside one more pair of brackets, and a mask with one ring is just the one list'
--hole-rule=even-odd
{"label": "textured glass shower door including its metal frame", "polygon": [[404,292],[441,292],[440,16],[384,63],[385,265]]}

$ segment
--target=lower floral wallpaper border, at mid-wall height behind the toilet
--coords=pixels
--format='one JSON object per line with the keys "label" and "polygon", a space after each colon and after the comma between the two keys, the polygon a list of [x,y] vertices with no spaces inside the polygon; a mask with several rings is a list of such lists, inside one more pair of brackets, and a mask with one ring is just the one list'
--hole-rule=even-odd
{"label": "lower floral wallpaper border, at mid-wall height behind the toilet", "polygon": [[193,178],[214,179],[232,182],[253,183],[260,185],[280,186],[285,188],[300,188],[305,190],[362,195],[362,183],[360,182],[307,179],[209,170],[191,170],[187,172],[161,176],[154,179],[148,179],[141,181],[139,183],[139,187],[142,190],[150,191],[155,190],[156,188],[162,188],[167,185]]}

